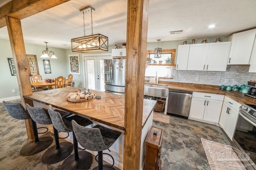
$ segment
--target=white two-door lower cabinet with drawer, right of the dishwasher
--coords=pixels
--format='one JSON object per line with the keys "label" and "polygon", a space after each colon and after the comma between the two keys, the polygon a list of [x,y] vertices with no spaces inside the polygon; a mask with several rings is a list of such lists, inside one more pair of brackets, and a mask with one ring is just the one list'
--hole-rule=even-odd
{"label": "white two-door lower cabinet with drawer, right of the dishwasher", "polygon": [[193,92],[189,118],[218,123],[224,95]]}

